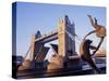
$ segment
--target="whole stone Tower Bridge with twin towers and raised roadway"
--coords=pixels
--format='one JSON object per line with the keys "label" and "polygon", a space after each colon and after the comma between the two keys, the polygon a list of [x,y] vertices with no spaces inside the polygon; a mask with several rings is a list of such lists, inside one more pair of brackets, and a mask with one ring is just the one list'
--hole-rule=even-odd
{"label": "whole stone Tower Bridge with twin towers and raised roadway", "polygon": [[[69,37],[68,32],[73,36],[73,40],[71,37]],[[58,29],[51,31],[50,33],[43,35],[40,31],[37,31],[36,35],[32,35],[32,43],[29,48],[29,53],[27,52],[27,56],[25,56],[24,62],[22,63],[22,66],[20,67],[20,70],[22,69],[29,69],[32,68],[31,63],[27,63],[26,60],[33,62],[37,66],[34,65],[34,68],[38,67],[44,63],[44,59],[49,51],[49,48],[45,46],[45,43],[53,41],[58,39],[59,44],[51,45],[53,49],[53,52],[56,56],[51,57],[50,64],[47,66],[47,69],[60,69],[64,67],[64,63],[69,62],[68,58],[70,56],[75,56],[75,25],[74,23],[71,23],[68,15],[64,16],[62,21],[58,23]],[[55,46],[55,48],[53,48]],[[55,51],[58,49],[57,51]],[[76,57],[78,58],[78,57]],[[76,59],[75,58],[75,59]],[[75,65],[76,64],[76,65]],[[80,60],[77,60],[73,67],[80,67]],[[26,67],[23,67],[25,66]],[[28,65],[28,66],[27,66]],[[66,64],[68,67],[71,65]],[[39,68],[41,68],[40,66]]]}

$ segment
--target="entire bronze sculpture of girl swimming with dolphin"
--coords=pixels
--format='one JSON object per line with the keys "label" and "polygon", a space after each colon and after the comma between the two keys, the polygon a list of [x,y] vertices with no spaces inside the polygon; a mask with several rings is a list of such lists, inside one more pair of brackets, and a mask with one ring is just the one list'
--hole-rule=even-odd
{"label": "entire bronze sculpture of girl swimming with dolphin", "polygon": [[[96,53],[96,52],[98,51],[98,49],[100,48],[100,45],[101,45],[101,43],[102,43],[102,41],[104,41],[104,38],[106,37],[106,28],[105,28],[104,26],[97,24],[96,17],[93,19],[93,18],[92,18],[92,15],[87,15],[87,16],[89,17],[89,22],[90,22],[92,26],[95,28],[95,30],[88,32],[88,33],[84,37],[84,39],[83,39],[83,41],[82,41],[82,43],[81,43],[81,45],[80,45],[80,54],[81,54],[81,58],[82,58],[83,60],[87,62],[88,65],[90,65],[90,67],[92,67],[97,73],[100,73],[100,69],[97,68],[96,64],[94,63],[94,60],[93,60],[93,58],[92,58],[92,55],[95,55],[95,53]],[[94,21],[95,21],[95,22],[94,22]],[[94,33],[94,32],[96,33],[96,36],[97,36],[98,38],[100,38],[100,42],[98,43],[98,46],[97,46],[97,48],[90,45],[90,43],[93,42],[92,40],[89,40],[89,39],[87,40],[87,39],[86,39],[87,36],[92,35],[92,33]],[[90,54],[90,51],[89,51],[89,50],[92,50],[92,49],[95,50],[95,51],[93,52],[93,54]]]}

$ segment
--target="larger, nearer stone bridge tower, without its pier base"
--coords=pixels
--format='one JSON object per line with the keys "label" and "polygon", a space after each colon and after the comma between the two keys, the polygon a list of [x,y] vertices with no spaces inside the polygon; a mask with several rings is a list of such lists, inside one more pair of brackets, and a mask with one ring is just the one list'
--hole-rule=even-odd
{"label": "larger, nearer stone bridge tower, without its pier base", "polygon": [[71,24],[68,15],[65,15],[58,25],[58,53],[63,57],[72,56],[73,54],[75,54],[75,41],[72,41],[72,39],[66,35],[66,31],[75,36],[74,23]]}

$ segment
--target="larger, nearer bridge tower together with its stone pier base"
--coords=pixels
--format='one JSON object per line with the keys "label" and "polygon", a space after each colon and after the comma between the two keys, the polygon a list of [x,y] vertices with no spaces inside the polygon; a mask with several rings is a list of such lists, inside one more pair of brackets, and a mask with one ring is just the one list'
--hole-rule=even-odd
{"label": "larger, nearer bridge tower together with its stone pier base", "polygon": [[47,67],[48,71],[52,71],[52,69],[61,69],[64,67],[70,67],[72,69],[80,67],[78,59],[75,59],[76,62],[69,59],[69,56],[73,56],[75,54],[75,40],[72,40],[66,32],[75,36],[74,23],[71,24],[68,15],[65,15],[64,18],[61,19],[58,24],[58,54],[51,57],[51,62]]}

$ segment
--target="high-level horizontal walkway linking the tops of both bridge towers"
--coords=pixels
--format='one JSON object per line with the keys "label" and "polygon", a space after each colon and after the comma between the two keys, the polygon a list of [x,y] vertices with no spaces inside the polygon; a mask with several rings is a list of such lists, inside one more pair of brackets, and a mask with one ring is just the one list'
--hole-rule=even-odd
{"label": "high-level horizontal walkway linking the tops of both bridge towers", "polygon": [[47,43],[56,39],[58,39],[58,30],[53,30],[50,33],[43,35],[40,38],[35,39],[35,42],[41,41],[41,43]]}

